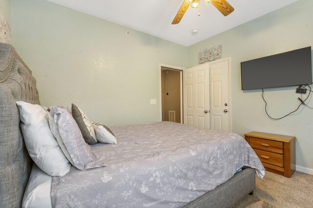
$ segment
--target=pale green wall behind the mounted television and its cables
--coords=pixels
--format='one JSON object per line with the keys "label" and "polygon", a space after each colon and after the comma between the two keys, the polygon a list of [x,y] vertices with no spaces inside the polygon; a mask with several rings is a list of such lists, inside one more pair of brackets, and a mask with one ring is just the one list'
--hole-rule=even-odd
{"label": "pale green wall behind the mounted television and its cables", "polygon": [[[198,65],[198,52],[222,44],[222,58],[231,57],[232,130],[296,136],[296,165],[313,169],[313,110],[300,110],[273,121],[265,113],[262,90],[241,90],[240,62],[313,46],[313,0],[300,0],[268,15],[188,47],[188,67]],[[236,12],[236,10],[235,10]],[[265,90],[268,112],[280,117],[297,108],[296,87]],[[308,100],[313,107],[313,100]]]}

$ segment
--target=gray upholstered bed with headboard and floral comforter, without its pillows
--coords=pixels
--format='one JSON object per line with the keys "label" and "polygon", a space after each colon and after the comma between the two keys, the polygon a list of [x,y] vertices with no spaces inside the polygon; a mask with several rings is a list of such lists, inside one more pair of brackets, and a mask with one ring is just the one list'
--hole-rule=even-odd
{"label": "gray upholstered bed with headboard and floral comforter, without its pillows", "polygon": [[[31,187],[36,181],[28,180],[33,163],[15,102],[40,101],[35,78],[11,45],[0,43],[0,69],[5,69],[0,71],[0,207],[15,208],[22,206],[27,183]],[[255,174],[265,173],[254,151],[235,133],[172,122],[116,127],[112,132],[118,144],[90,145],[105,167],[71,167],[65,176],[39,177],[48,187],[39,191],[48,192],[43,201],[60,208],[229,207],[252,194]],[[34,167],[31,178],[40,172]]]}

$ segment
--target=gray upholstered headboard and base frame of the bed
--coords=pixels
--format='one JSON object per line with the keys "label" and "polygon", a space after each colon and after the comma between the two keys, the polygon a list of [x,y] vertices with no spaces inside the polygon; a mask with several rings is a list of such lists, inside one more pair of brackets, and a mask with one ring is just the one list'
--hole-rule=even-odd
{"label": "gray upholstered headboard and base frame of the bed", "polygon": [[[39,104],[36,79],[13,46],[0,43],[0,208],[18,208],[32,160],[25,148],[16,101]],[[246,168],[184,208],[230,207],[255,189],[255,170]]]}

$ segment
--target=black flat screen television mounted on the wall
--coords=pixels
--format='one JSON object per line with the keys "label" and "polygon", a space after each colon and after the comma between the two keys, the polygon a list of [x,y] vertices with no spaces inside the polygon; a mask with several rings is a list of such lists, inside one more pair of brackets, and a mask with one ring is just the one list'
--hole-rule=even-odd
{"label": "black flat screen television mounted on the wall", "polygon": [[241,62],[242,90],[312,84],[311,46]]}

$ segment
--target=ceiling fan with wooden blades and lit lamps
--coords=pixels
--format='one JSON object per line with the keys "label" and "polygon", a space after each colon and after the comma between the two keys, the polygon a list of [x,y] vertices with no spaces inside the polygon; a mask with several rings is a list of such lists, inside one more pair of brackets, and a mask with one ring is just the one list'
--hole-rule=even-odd
{"label": "ceiling fan with wooden blades and lit lamps", "polygon": [[[234,11],[234,8],[226,0],[204,0],[204,1],[206,4],[212,3],[224,16],[227,16]],[[200,5],[200,0],[184,0],[172,24],[178,24],[180,22],[185,12],[187,11],[189,5],[191,5],[191,8],[198,9]]]}

